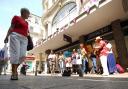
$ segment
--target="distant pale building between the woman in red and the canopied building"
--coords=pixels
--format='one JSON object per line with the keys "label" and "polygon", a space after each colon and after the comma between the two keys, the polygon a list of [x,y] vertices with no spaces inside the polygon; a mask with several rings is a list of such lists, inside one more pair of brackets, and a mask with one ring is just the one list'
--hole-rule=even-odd
{"label": "distant pale building between the woman in red and the canopied building", "polygon": [[[43,28],[42,28],[41,17],[35,14],[30,14],[30,17],[28,18],[27,21],[29,23],[29,32],[30,32],[30,36],[32,37],[33,44],[34,46],[37,46],[39,44],[39,41],[43,39]],[[37,54],[28,51],[25,62],[30,66],[28,71],[34,72],[36,71],[36,63],[39,62],[39,57]]]}

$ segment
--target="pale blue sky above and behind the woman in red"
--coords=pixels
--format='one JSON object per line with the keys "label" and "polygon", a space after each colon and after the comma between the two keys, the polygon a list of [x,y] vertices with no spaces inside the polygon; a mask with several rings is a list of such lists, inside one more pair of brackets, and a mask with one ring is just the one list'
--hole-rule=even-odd
{"label": "pale blue sky above and behind the woman in red", "polygon": [[0,48],[14,15],[20,15],[21,8],[28,8],[32,14],[42,16],[42,0],[0,0]]}

